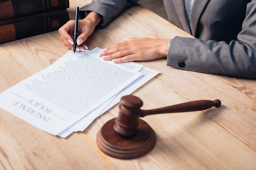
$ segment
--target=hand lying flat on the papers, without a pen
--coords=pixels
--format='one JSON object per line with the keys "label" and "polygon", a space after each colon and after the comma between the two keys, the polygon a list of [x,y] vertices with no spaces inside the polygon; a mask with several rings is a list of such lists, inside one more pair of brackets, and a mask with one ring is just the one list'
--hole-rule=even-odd
{"label": "hand lying flat on the papers, without a pen", "polygon": [[150,61],[167,57],[170,39],[131,38],[104,48],[99,57],[115,63]]}

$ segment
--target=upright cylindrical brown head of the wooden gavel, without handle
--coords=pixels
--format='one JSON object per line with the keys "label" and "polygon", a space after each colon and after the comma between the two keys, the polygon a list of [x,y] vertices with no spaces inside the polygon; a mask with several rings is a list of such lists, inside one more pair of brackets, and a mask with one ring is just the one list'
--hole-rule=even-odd
{"label": "upright cylindrical brown head of the wooden gavel, without handle", "polygon": [[136,134],[138,119],[141,114],[140,107],[143,105],[143,102],[136,96],[128,95],[123,96],[120,103],[114,129],[121,136],[131,137]]}

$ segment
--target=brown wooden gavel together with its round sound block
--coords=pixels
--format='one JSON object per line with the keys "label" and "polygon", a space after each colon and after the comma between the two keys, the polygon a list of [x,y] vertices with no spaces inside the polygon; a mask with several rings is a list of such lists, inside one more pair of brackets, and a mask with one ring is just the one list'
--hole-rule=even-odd
{"label": "brown wooden gavel together with its round sound block", "polygon": [[109,156],[133,159],[149,153],[156,144],[155,132],[139,117],[160,113],[200,111],[220,107],[220,100],[197,100],[152,110],[141,110],[143,102],[132,95],[121,98],[119,115],[102,126],[97,134],[99,148]]}

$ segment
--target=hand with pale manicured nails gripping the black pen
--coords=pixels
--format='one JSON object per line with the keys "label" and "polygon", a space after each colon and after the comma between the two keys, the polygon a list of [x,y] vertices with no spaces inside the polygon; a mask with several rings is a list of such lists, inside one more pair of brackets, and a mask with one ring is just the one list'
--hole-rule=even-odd
{"label": "hand with pale manicured nails gripping the black pen", "polygon": [[[84,42],[93,33],[100,21],[101,16],[95,12],[90,12],[87,17],[78,21],[78,37],[76,41],[78,46],[76,46],[76,51],[84,51],[84,49],[88,49]],[[74,44],[74,24],[75,21],[70,20],[58,30],[61,34],[61,41],[63,41],[65,46],[72,50]]]}

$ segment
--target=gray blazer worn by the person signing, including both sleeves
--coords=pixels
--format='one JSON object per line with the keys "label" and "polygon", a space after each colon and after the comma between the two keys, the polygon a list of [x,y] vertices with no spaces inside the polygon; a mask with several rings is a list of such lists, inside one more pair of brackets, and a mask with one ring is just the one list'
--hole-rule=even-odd
{"label": "gray blazer worn by the person signing, including both sleeves", "polygon": [[[104,28],[138,0],[93,0],[82,7],[103,16]],[[171,23],[194,38],[175,37],[167,65],[174,68],[256,79],[256,0],[194,0],[191,28],[184,0],[164,0]]]}

